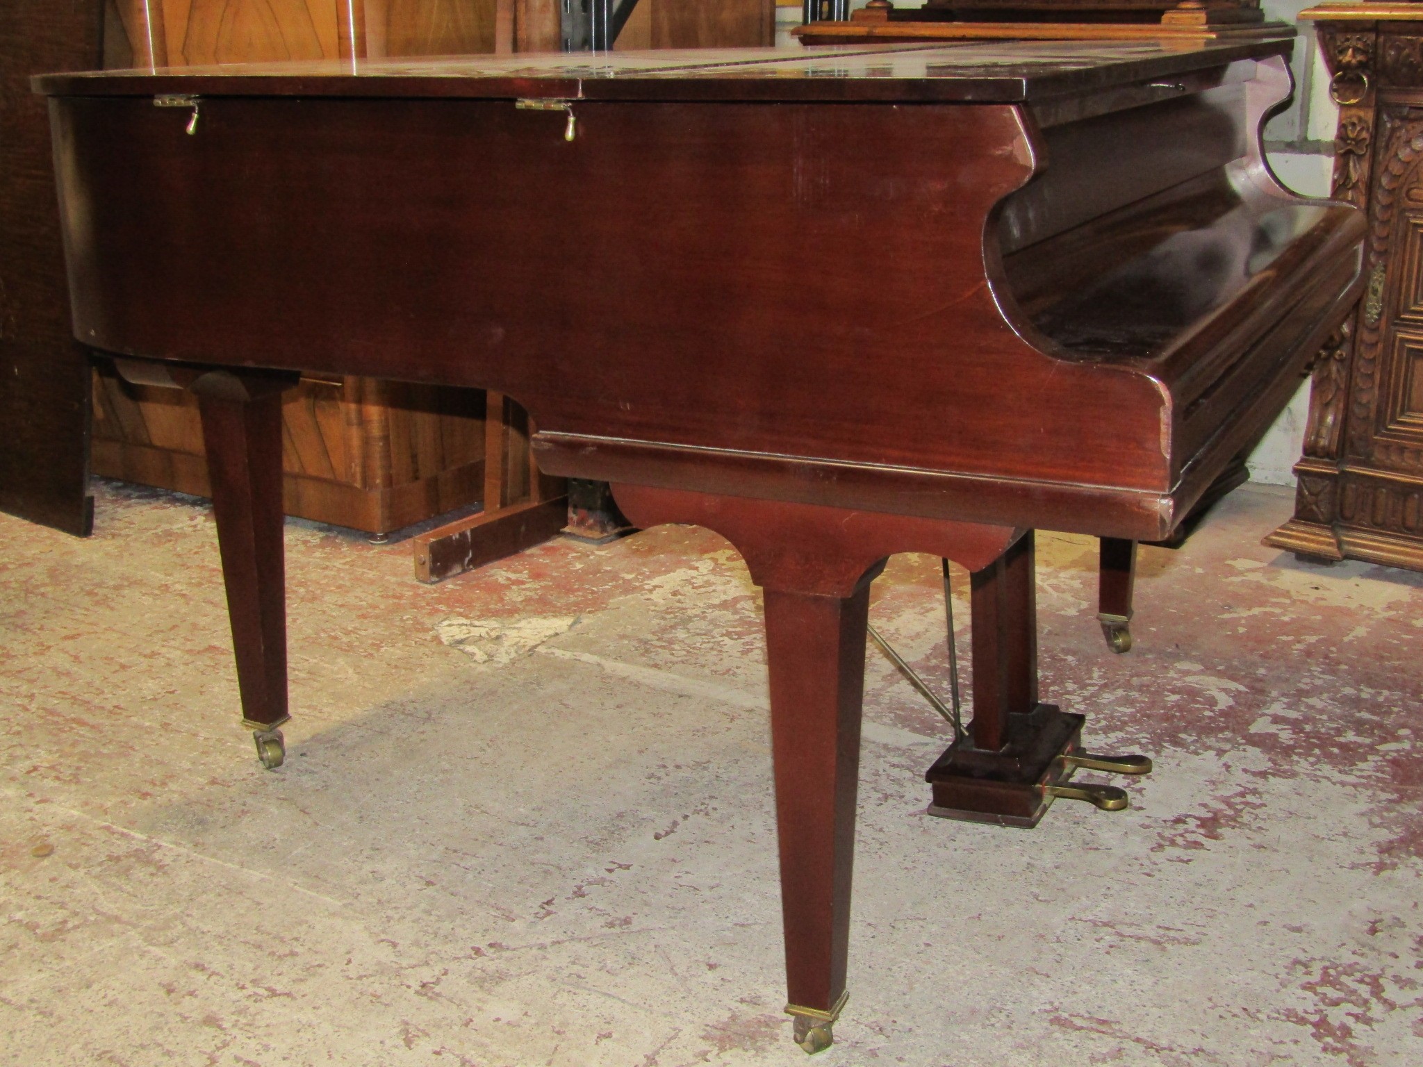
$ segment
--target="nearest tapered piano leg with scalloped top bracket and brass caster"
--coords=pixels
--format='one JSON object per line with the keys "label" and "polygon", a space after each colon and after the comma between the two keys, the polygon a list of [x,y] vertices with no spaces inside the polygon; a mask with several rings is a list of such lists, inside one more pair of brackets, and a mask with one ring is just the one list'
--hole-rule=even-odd
{"label": "nearest tapered piano leg with scalloped top bracket and brass caster", "polygon": [[894,552],[982,569],[1017,531],[632,485],[613,492],[638,526],[693,522],[721,534],[766,590],[785,1012],[797,1043],[820,1051],[845,1004],[869,583]]}

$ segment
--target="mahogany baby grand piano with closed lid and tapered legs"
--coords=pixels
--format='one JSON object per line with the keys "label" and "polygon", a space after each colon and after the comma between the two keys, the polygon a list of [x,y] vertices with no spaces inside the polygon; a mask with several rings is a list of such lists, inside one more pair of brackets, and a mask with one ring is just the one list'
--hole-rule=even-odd
{"label": "mahogany baby grand piano with closed lid and tapered legs", "polygon": [[1033,825],[1093,758],[1083,716],[1039,700],[1033,529],[1170,535],[1358,293],[1359,212],[1261,159],[1288,50],[515,55],[37,88],[78,339],[199,398],[269,764],[277,397],[300,370],[512,396],[545,471],[741,552],[766,592],[787,1012],[815,1051],[845,1003],[885,558],[973,575],[973,721],[931,773],[935,811]]}

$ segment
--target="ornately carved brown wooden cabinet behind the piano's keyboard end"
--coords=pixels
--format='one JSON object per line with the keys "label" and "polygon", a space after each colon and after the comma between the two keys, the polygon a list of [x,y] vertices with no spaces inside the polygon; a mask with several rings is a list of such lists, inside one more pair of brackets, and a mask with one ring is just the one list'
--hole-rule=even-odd
{"label": "ornately carved brown wooden cabinet behind the piano's keyboard end", "polygon": [[1423,570],[1423,4],[1323,4],[1333,195],[1369,213],[1358,310],[1319,353],[1295,516],[1266,545]]}

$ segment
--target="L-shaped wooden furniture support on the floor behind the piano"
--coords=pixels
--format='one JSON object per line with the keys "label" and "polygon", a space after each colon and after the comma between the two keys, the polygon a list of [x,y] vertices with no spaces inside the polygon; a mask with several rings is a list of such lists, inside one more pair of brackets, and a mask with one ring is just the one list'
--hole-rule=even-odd
{"label": "L-shaped wooden furniture support on the floor behind the piano", "polygon": [[434,583],[556,536],[568,522],[562,478],[538,469],[528,413],[490,393],[484,431],[484,511],[414,539],[416,579]]}

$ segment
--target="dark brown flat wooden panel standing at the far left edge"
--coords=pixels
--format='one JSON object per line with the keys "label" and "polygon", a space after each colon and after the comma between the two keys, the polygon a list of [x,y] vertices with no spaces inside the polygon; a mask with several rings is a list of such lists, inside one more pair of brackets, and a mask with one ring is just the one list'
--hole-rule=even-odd
{"label": "dark brown flat wooden panel standing at the far left edge", "polygon": [[87,353],[70,331],[44,101],[30,75],[98,65],[97,0],[0,0],[0,509],[88,534]]}

